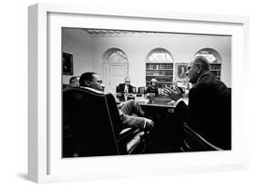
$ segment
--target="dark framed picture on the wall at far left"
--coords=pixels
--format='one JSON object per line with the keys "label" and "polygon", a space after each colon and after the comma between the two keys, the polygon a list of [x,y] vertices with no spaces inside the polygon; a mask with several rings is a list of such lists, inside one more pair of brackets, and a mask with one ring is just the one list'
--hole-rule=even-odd
{"label": "dark framed picture on the wall at far left", "polygon": [[73,54],[62,53],[62,74],[73,75]]}

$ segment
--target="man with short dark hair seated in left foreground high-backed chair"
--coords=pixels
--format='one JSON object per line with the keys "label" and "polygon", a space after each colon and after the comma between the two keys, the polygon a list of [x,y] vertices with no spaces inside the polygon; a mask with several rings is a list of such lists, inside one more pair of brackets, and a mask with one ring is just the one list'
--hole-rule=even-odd
{"label": "man with short dark hair seated in left foreground high-backed chair", "polygon": [[[105,88],[99,75],[91,72],[81,74],[79,84],[81,88],[90,89],[91,91],[100,93],[103,93]],[[148,130],[153,129],[153,121],[143,117],[144,111],[142,111],[138,103],[134,100],[128,100],[126,103],[122,103],[117,107],[119,110],[120,120],[124,127],[130,126],[147,128]],[[138,116],[133,116],[132,113],[135,113]]]}

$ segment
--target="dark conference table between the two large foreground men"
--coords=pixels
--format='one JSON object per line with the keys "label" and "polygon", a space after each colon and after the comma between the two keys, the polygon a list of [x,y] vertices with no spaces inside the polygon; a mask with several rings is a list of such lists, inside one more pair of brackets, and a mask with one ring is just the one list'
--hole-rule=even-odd
{"label": "dark conference table between the two large foreground men", "polygon": [[[126,95],[119,99],[115,95],[117,102],[125,102],[126,99],[135,99],[145,117],[153,120],[155,123],[151,133],[153,143],[148,148],[148,153],[176,153],[179,152],[179,127],[175,125],[175,102],[165,95],[158,97],[147,97],[147,95],[138,96],[136,94]],[[188,103],[188,100],[186,101]]]}

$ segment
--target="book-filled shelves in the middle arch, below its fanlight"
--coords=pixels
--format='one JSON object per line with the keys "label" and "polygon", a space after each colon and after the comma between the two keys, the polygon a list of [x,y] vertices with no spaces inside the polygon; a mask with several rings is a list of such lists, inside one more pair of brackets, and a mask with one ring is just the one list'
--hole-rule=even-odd
{"label": "book-filled shelves in the middle arch, below its fanlight", "polygon": [[172,63],[146,63],[146,84],[155,78],[158,80],[158,86],[170,86],[173,82],[173,64]]}

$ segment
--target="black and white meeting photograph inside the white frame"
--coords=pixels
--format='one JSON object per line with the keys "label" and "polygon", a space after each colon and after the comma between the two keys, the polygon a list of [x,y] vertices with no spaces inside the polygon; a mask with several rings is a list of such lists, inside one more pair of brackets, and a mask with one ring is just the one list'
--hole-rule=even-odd
{"label": "black and white meeting photograph inside the white frame", "polygon": [[62,27],[62,157],[232,150],[231,41]]}

